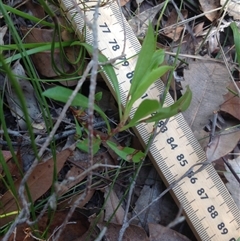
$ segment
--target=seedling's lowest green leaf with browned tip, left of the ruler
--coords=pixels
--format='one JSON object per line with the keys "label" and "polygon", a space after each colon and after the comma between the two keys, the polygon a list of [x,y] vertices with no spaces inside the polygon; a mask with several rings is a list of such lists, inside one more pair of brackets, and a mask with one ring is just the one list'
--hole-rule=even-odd
{"label": "seedling's lowest green leaf with browned tip, left of the ruler", "polygon": [[120,156],[125,161],[133,161],[138,163],[143,161],[145,158],[145,154],[142,151],[130,147],[117,146],[114,142],[111,141],[106,141],[106,143],[118,156]]}

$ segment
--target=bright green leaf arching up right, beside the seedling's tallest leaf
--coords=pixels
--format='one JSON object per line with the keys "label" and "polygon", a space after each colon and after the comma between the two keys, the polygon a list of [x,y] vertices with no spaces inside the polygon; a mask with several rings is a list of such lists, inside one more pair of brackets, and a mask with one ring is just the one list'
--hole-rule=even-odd
{"label": "bright green leaf arching up right, beside the seedling's tallest leaf", "polygon": [[171,66],[163,65],[152,70],[148,75],[145,75],[144,77],[142,77],[142,81],[140,84],[138,84],[134,94],[131,96],[131,99],[128,105],[132,106],[133,103],[136,100],[138,100],[147,91],[150,85],[152,85],[157,79],[163,76],[168,70],[172,70],[172,69],[173,67]]}

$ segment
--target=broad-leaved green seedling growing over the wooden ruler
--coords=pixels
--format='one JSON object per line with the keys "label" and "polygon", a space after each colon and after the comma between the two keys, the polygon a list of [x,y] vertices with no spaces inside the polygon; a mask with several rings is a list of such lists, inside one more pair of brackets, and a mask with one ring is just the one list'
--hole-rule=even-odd
{"label": "broad-leaved green seedling growing over the wooden ruler", "polygon": [[[75,42],[73,45],[81,45],[87,49],[89,53],[92,53],[92,47],[86,43]],[[99,62],[104,63],[107,61],[107,58],[99,54]],[[109,139],[114,134],[124,131],[130,127],[137,126],[142,122],[150,123],[150,122],[158,122],[159,120],[170,118],[178,114],[181,111],[185,111],[191,101],[192,93],[189,88],[185,94],[174,104],[168,107],[162,107],[161,103],[158,100],[153,99],[145,99],[138,106],[134,116],[128,122],[129,115],[134,103],[144,95],[147,89],[161,76],[163,76],[167,71],[173,70],[173,67],[168,65],[162,65],[164,61],[164,51],[156,50],[156,42],[154,38],[154,31],[151,25],[149,25],[147,35],[144,39],[142,49],[138,56],[137,65],[134,71],[133,79],[131,82],[131,88],[128,93],[127,103],[125,110],[122,110],[121,107],[121,99],[120,99],[120,91],[118,87],[118,80],[116,74],[113,70],[113,67],[108,65],[102,65],[103,70],[109,76],[110,81],[115,90],[116,100],[119,108],[119,117],[120,122],[117,127],[113,130],[110,129],[108,120],[102,110],[95,105],[94,109],[102,116],[102,118],[106,121],[108,127],[108,138],[101,136],[95,136],[94,142],[94,153],[96,153],[99,149],[101,142],[106,142],[106,144],[116,152],[122,159],[126,161],[141,161],[145,154],[141,151],[136,151],[130,147],[119,147],[115,143],[111,142]],[[149,63],[146,65],[146,63]],[[52,98],[57,101],[66,102],[69,96],[72,94],[72,91],[66,89],[64,87],[55,87],[52,89],[48,89],[43,93],[44,96]],[[88,98],[78,93],[75,99],[72,102],[72,106],[81,106],[82,108],[88,107]],[[79,130],[79,128],[78,128]],[[79,133],[79,131],[78,131]],[[87,151],[88,141],[84,140],[81,142],[78,147],[82,150]]]}

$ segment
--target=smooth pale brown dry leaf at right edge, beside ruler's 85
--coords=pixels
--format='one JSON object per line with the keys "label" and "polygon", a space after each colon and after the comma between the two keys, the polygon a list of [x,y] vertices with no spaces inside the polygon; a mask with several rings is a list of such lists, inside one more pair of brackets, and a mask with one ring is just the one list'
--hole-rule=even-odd
{"label": "smooth pale brown dry leaf at right edge, beside ruler's 85", "polygon": [[209,161],[215,161],[231,152],[240,140],[240,130],[231,128],[215,136],[210,146],[206,148]]}

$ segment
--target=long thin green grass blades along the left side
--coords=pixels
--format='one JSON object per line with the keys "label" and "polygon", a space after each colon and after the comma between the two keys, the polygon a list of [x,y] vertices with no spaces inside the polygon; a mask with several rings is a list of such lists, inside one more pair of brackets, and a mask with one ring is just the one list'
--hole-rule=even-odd
{"label": "long thin green grass blades along the left side", "polygon": [[[11,64],[12,61],[15,61],[15,60],[21,58],[24,69],[29,76],[30,83],[32,84],[32,86],[34,88],[34,94],[38,100],[39,107],[41,109],[41,113],[43,115],[43,119],[45,122],[45,126],[47,127],[47,132],[49,133],[50,129],[52,128],[52,120],[51,120],[51,116],[50,116],[50,112],[49,112],[49,108],[48,108],[48,103],[45,100],[44,96],[42,96],[42,87],[38,81],[39,77],[36,74],[35,67],[32,64],[32,61],[31,61],[29,55],[40,52],[40,51],[49,50],[49,49],[51,49],[51,44],[45,44],[45,43],[44,44],[39,44],[39,43],[38,44],[24,44],[22,42],[22,38],[19,36],[19,33],[17,32],[17,30],[14,26],[14,23],[12,22],[10,15],[18,14],[19,16],[21,16],[25,19],[29,19],[29,20],[32,20],[32,21],[35,21],[38,23],[41,22],[42,24],[45,24],[45,26],[49,26],[49,27],[54,27],[55,25],[50,24],[46,21],[39,20],[35,17],[29,16],[28,14],[25,14],[24,12],[11,8],[7,5],[4,5],[2,2],[0,2],[0,11],[2,12],[2,14],[4,16],[5,23],[7,24],[8,28],[9,28],[10,36],[12,37],[12,39],[14,41],[14,44],[1,46],[0,52],[2,52],[3,50],[5,50],[5,51],[6,50],[10,50],[10,51],[15,50],[15,52],[16,52],[13,56],[10,56],[7,59],[4,59],[4,57],[1,53],[1,55],[0,55],[1,71],[3,73],[5,73],[6,76],[8,77],[12,87],[14,88],[15,93],[17,94],[17,96],[20,100],[20,104],[21,104],[22,111],[24,114],[24,120],[26,121],[27,131],[28,131],[30,141],[31,141],[31,149],[34,151],[35,157],[39,158],[39,160],[40,160],[40,157],[38,157],[38,148],[35,143],[35,135],[34,135],[32,123],[29,118],[28,110],[26,107],[27,103],[26,103],[24,94],[22,92],[22,89],[16,79],[16,76],[14,76],[14,74],[12,73],[12,70],[11,70],[9,64]],[[71,42],[63,43],[64,46],[69,46],[70,44],[71,44]],[[56,46],[60,46],[60,43],[57,43]],[[1,99],[0,99],[0,101],[1,101],[0,104],[1,104],[2,110],[3,110],[3,104],[4,104],[3,96],[4,96],[4,91],[1,93]],[[4,130],[4,137],[8,143],[8,148],[11,151],[14,162],[16,163],[17,166],[19,166],[19,162],[15,155],[14,148],[11,144],[11,138],[8,134],[5,116],[2,111],[0,112],[0,120],[2,123],[2,129]],[[55,147],[54,142],[51,143],[51,152],[54,157],[56,155],[56,147]],[[6,179],[7,182],[5,181],[6,188],[8,188],[13,193],[17,206],[20,206],[18,190],[16,190],[16,188],[14,186],[14,180],[13,180],[11,173],[5,163],[5,160],[3,159],[2,153],[0,155],[0,161],[1,161],[1,165],[3,167],[4,173],[5,173],[5,176],[7,178]],[[55,158],[55,166],[56,166],[56,158]],[[19,167],[19,171],[23,176],[23,173],[22,173],[22,170],[20,167]],[[53,183],[56,180],[57,180],[57,174],[56,174],[56,167],[55,167],[55,171],[53,173]],[[25,190],[26,190],[26,193],[28,196],[28,200],[30,201],[30,204],[31,204],[29,207],[30,213],[31,213],[32,219],[35,220],[36,219],[35,207],[34,207],[34,203],[31,201],[32,200],[31,193],[29,193],[27,186],[25,186]],[[6,230],[6,228],[4,230]]]}

